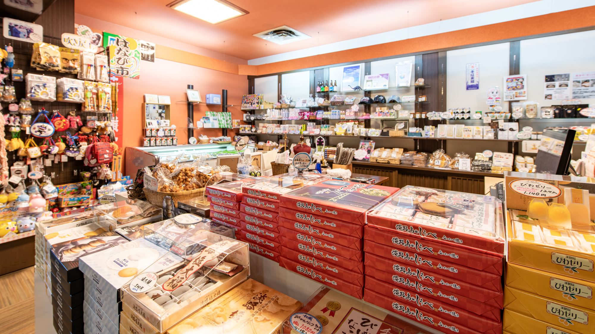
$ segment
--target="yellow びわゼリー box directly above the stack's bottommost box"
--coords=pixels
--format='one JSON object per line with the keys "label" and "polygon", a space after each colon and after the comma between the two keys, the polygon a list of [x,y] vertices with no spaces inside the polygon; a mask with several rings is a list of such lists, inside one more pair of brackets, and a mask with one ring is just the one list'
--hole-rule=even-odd
{"label": "yellow \u3073\u308f\u30bc\u30ea\u30fc box directly above the stack's bottommost box", "polygon": [[508,286],[504,288],[504,307],[566,330],[595,334],[595,312],[587,308],[549,300]]}

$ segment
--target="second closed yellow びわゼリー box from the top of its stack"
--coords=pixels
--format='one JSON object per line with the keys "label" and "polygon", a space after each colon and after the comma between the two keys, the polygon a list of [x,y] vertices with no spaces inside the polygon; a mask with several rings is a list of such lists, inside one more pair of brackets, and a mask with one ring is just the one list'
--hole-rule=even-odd
{"label": "second closed yellow \u3073\u308f\u30bc\u30ea\u30fc box from the top of its stack", "polygon": [[508,263],[506,286],[595,310],[595,283]]}

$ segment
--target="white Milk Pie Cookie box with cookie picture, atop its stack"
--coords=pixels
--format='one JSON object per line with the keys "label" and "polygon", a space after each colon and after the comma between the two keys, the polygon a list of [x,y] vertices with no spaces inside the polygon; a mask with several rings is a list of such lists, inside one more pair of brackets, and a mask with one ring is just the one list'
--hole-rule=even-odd
{"label": "white Milk Pie Cookie box with cookie picture, atop its stack", "polygon": [[[79,269],[86,276],[84,289],[115,323],[121,286],[167,253],[149,241],[137,239],[82,257]],[[178,263],[181,259],[172,254],[168,259],[162,258],[166,260]]]}

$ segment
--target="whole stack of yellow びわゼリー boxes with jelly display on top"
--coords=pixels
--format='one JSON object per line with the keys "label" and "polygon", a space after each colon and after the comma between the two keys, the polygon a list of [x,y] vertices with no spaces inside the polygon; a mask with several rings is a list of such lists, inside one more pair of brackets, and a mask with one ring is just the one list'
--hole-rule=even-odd
{"label": "whole stack of yellow \u3073\u308f\u30bc\u30ea\u30fc boxes with jelly display on top", "polygon": [[503,332],[595,334],[595,184],[581,177],[505,175]]}

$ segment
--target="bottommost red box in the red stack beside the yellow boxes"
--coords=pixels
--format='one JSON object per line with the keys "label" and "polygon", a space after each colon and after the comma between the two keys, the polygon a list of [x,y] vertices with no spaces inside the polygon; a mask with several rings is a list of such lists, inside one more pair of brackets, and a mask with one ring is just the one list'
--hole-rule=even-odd
{"label": "bottommost red box in the red stack beside the yellow boxes", "polygon": [[385,310],[389,310],[400,316],[409,318],[414,320],[415,322],[425,324],[425,326],[432,327],[436,330],[440,330],[440,332],[447,333],[447,334],[479,334],[477,330],[472,330],[465,326],[461,326],[458,323],[452,322],[450,320],[444,319],[444,317],[435,316],[434,314],[430,313],[429,311],[423,310],[421,308],[415,307],[410,304],[401,303],[392,300],[385,295],[378,294],[378,292],[372,291],[370,289],[364,289],[364,301],[367,301],[370,304],[374,304],[384,308]]}

